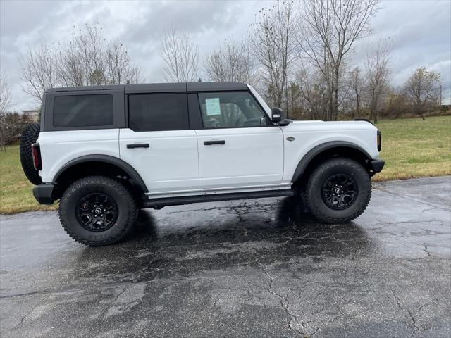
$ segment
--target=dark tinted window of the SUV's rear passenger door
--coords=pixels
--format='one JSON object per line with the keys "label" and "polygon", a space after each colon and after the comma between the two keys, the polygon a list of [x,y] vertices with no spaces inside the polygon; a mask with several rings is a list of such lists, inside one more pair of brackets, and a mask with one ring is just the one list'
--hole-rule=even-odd
{"label": "dark tinted window of the SUV's rear passenger door", "polygon": [[190,129],[186,93],[129,95],[128,114],[137,132]]}

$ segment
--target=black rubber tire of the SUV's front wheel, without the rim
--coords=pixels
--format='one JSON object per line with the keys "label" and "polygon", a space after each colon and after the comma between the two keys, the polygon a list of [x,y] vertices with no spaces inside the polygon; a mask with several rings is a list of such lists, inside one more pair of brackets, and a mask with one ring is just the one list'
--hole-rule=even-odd
{"label": "black rubber tire of the SUV's front wheel, without the rim", "polygon": [[[354,202],[343,210],[327,206],[322,198],[323,183],[335,174],[350,175],[357,183]],[[331,158],[318,165],[311,173],[304,190],[304,201],[309,211],[323,223],[348,223],[359,217],[371,199],[371,180],[365,168],[350,158]]]}

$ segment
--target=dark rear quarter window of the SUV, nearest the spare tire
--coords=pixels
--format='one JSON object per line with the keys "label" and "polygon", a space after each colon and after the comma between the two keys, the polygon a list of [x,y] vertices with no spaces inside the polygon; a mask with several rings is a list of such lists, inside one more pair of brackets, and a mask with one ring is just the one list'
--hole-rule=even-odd
{"label": "dark rear quarter window of the SUV, nearest the spare tire", "polygon": [[68,95],[54,99],[54,127],[113,125],[113,96]]}

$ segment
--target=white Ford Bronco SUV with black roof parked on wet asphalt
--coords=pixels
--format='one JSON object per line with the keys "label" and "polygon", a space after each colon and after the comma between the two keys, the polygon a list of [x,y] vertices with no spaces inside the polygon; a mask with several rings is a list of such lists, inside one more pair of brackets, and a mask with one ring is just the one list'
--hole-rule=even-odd
{"label": "white Ford Bronco SUV with black roof parked on wet asphalt", "polygon": [[41,204],[89,246],[118,242],[140,208],[293,196],[319,220],[357,218],[382,170],[368,121],[291,121],[247,84],[49,89],[21,137]]}

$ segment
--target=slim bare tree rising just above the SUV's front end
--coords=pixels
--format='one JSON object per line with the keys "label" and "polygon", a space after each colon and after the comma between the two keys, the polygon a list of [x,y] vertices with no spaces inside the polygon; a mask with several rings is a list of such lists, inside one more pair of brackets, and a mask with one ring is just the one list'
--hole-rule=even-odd
{"label": "slim bare tree rising just above the SUV's front end", "polygon": [[383,99],[390,89],[390,43],[380,41],[367,52],[366,95],[369,103],[370,120],[378,122],[378,111],[381,110]]}

